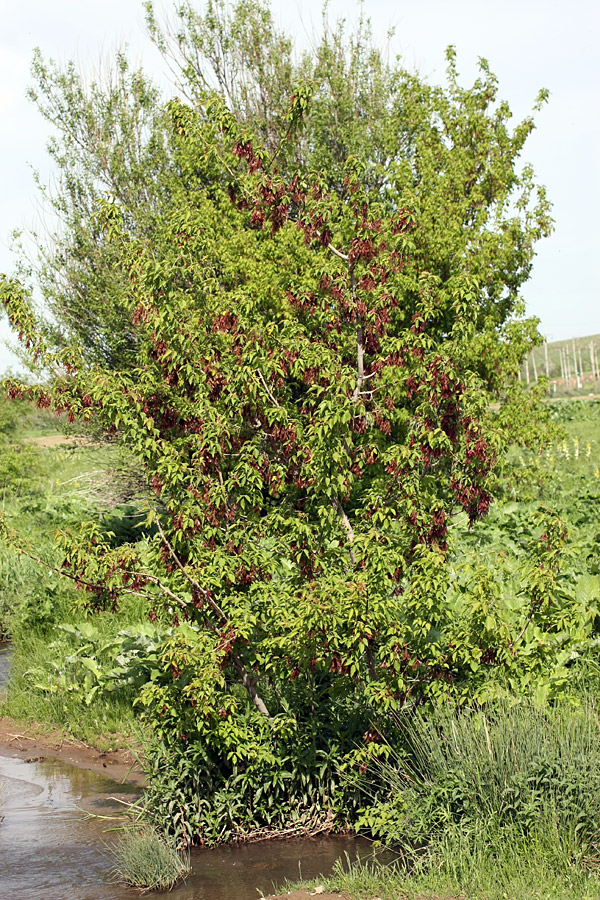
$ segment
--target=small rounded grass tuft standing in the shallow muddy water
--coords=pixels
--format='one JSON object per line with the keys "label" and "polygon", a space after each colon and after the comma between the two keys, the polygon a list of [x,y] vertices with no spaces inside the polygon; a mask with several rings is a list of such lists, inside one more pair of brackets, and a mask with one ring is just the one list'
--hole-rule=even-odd
{"label": "small rounded grass tuft standing in the shallow muddy water", "polygon": [[111,847],[115,859],[113,875],[131,887],[149,891],[170,891],[189,874],[189,860],[149,828],[131,828]]}

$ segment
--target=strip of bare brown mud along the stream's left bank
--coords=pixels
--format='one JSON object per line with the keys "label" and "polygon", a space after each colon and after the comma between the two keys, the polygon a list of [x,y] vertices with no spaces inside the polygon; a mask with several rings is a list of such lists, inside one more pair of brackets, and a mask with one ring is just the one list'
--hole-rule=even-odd
{"label": "strip of bare brown mud along the stream's left bank", "polygon": [[0,754],[38,761],[46,757],[89,769],[113,781],[143,785],[144,775],[131,750],[98,750],[82,741],[66,738],[57,730],[0,717]]}

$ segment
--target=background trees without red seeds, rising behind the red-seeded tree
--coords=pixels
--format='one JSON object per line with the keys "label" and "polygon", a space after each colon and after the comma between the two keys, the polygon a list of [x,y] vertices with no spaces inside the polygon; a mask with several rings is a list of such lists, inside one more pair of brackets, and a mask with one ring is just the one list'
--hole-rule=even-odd
{"label": "background trees without red seeds, rising behind the red-seeded tree", "polygon": [[[364,19],[349,35],[343,25],[331,30],[325,21],[314,51],[296,61],[291,40],[262,0],[240,0],[231,8],[216,0],[204,14],[183,4],[171,29],[161,27],[151,3],[146,9],[151,37],[200,115],[216,90],[277,156],[282,175],[291,178],[299,166],[318,172],[345,203],[347,164],[356,160],[364,190],[386,214],[398,198],[417,213],[407,263],[415,288],[405,298],[406,322],[419,306],[422,273],[444,283],[470,272],[481,288],[473,358],[498,393],[514,357],[537,339],[535,329],[517,329],[513,319],[522,317],[519,291],[551,219],[531,168],[519,171],[533,119],[511,132],[510,110],[498,101],[485,60],[481,77],[465,89],[450,50],[447,87],[440,88],[398,61],[387,62]],[[122,368],[132,361],[135,342],[122,316],[125,286],[98,232],[94,200],[108,190],[124,203],[128,230],[152,240],[173,194],[195,177],[193,165],[182,167],[176,159],[158,93],[122,55],[104,86],[86,89],[73,67],[61,72],[39,57],[34,77],[33,96],[59,128],[51,152],[62,175],[56,208],[64,230],[34,267],[58,323],[53,339],[77,336],[88,356],[101,353]],[[310,113],[282,142],[289,98],[299,84],[311,86]],[[540,93],[535,109],[546,96]],[[82,315],[85,310],[92,315]],[[449,310],[447,320],[437,320],[440,333],[451,322]]]}

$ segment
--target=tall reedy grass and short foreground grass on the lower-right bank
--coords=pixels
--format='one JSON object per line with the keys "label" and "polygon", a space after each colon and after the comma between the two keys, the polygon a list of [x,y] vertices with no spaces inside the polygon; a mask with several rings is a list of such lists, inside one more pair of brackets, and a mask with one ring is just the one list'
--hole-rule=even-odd
{"label": "tall reedy grass and short foreground grass on the lower-right bank", "polygon": [[387,760],[374,763],[374,801],[362,816],[402,865],[339,866],[333,889],[382,898],[600,897],[600,722],[590,700],[447,706],[413,713],[403,731]]}

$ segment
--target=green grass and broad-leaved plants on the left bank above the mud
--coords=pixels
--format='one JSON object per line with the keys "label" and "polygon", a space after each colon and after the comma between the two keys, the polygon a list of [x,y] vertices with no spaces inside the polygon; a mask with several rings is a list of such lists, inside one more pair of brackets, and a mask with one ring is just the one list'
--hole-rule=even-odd
{"label": "green grass and broad-leaved plants on the left bank above the mud", "polygon": [[59,575],[55,539],[90,514],[119,539],[131,537],[135,507],[123,501],[138,496],[143,481],[116,447],[64,437],[47,413],[4,402],[0,415],[4,517],[31,554],[0,547],[0,627],[14,651],[2,713],[112,746],[131,734],[156,626],[133,598],[90,619],[85,596]]}

